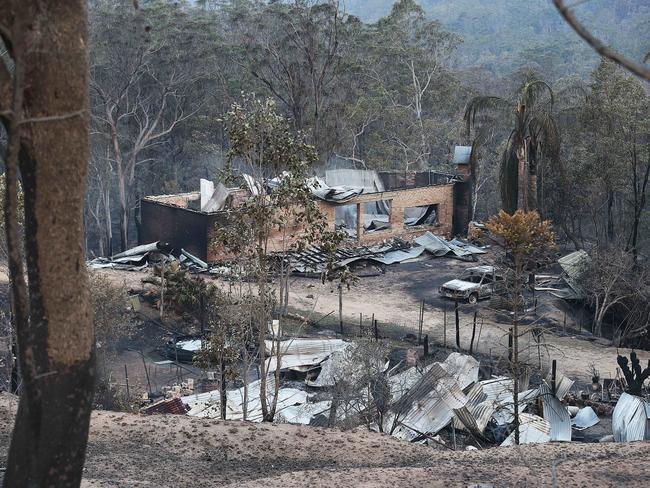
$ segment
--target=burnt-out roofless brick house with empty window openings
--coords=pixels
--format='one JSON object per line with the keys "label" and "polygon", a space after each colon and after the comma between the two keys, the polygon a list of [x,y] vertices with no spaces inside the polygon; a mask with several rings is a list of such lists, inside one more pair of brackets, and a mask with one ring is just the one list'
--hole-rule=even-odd
{"label": "burnt-out roofless brick house with empty window openings", "polygon": [[[411,241],[425,231],[443,237],[465,235],[471,208],[469,164],[457,172],[332,170],[316,178],[318,205],[328,225],[344,230],[359,246],[399,237]],[[242,188],[202,180],[201,191],[144,197],[140,201],[141,243],[163,241],[208,262],[215,226],[228,225],[237,207],[255,191],[243,175]]]}

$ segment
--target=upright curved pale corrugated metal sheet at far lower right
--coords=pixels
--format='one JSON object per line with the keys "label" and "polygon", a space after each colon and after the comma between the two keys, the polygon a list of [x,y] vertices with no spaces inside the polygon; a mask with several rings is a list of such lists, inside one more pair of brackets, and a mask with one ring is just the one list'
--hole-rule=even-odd
{"label": "upright curved pale corrugated metal sheet at far lower right", "polygon": [[616,442],[650,440],[650,402],[623,393],[612,412],[612,430]]}

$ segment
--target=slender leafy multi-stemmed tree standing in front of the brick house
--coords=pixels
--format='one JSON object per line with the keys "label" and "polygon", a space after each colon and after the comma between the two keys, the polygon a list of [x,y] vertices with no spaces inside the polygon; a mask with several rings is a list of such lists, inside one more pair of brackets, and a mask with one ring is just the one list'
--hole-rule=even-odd
{"label": "slender leafy multi-stemmed tree standing in front of the brick house", "polygon": [[[290,121],[277,113],[275,101],[245,95],[224,116],[230,140],[229,168],[226,179],[233,177],[233,165],[247,171],[255,184],[251,195],[237,208],[230,225],[215,229],[216,250],[239,256],[239,261],[257,287],[256,327],[260,358],[266,352],[268,324],[278,309],[277,290],[270,284],[279,271],[282,290],[280,305],[288,297],[291,253],[312,244],[333,251],[342,237],[329,229],[327,220],[312,194],[309,170],[318,159],[314,146],[294,134]],[[272,260],[275,254],[275,260]],[[279,269],[274,262],[280,263]],[[272,421],[280,387],[282,320],[277,344],[270,351],[277,361],[275,395],[267,398],[267,362],[260,361],[260,400],[265,421]]]}

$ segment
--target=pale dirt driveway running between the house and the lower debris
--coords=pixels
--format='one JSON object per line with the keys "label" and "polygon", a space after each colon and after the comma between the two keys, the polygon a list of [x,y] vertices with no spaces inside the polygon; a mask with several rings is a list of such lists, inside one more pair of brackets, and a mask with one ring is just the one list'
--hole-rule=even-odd
{"label": "pale dirt driveway running between the house and the lower debris", "polygon": [[[425,258],[423,260],[387,266],[383,274],[366,276],[349,290],[344,291],[343,314],[348,330],[356,330],[361,314],[364,325],[374,316],[382,327],[403,328],[404,335],[417,330],[419,307],[425,301],[423,333],[432,342],[454,346],[453,303],[441,298],[438,287],[458,277],[464,269],[479,263],[467,263],[449,258]],[[146,272],[101,270],[115,283],[130,289],[139,289]],[[227,283],[221,283],[224,287]],[[338,292],[335,285],[321,283],[319,279],[293,278],[290,285],[290,308],[320,321],[323,329],[338,329]],[[608,341],[590,337],[589,334],[572,334],[582,327],[570,314],[564,315],[561,300],[549,293],[538,293],[538,315],[534,326],[545,330],[538,346],[532,334],[520,339],[522,356],[532,365],[541,363],[548,369],[553,359],[558,370],[586,384],[591,382],[590,367],[593,365],[601,378],[616,377],[617,353],[629,354],[630,349],[617,349],[606,345]],[[445,312],[446,310],[446,312]],[[475,307],[462,305],[460,309],[460,344],[468,350],[472,336]],[[329,314],[329,315],[328,315]],[[445,327],[446,316],[446,327]],[[564,320],[566,318],[566,327]],[[526,329],[526,328],[524,328]],[[530,327],[528,328],[530,329]],[[494,356],[507,355],[508,317],[490,308],[489,302],[478,305],[478,326],[474,350]],[[650,359],[650,352],[637,351],[640,359]]]}

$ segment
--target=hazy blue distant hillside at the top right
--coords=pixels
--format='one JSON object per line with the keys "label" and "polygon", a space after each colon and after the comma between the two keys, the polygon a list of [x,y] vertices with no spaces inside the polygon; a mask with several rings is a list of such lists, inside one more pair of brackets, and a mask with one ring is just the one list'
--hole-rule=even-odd
{"label": "hazy blue distant hillside at the top right", "polygon": [[[417,0],[416,0],[417,1]],[[388,14],[393,0],[347,0],[346,9],[374,22]],[[457,62],[503,75],[534,67],[552,78],[587,76],[597,56],[564,23],[550,0],[419,0],[427,14],[460,34]],[[581,2],[567,2],[576,4]],[[650,2],[591,0],[575,13],[605,42],[641,60],[650,51]],[[576,73],[577,72],[577,73]]]}

